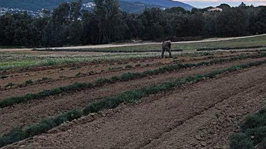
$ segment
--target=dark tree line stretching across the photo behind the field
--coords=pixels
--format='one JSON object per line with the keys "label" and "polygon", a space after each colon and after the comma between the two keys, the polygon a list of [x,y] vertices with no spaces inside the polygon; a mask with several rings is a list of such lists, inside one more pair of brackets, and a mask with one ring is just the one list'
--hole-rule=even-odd
{"label": "dark tree line stretching across the photo behind the field", "polygon": [[119,9],[117,0],[94,0],[92,11],[81,10],[82,1],[62,3],[42,17],[5,14],[0,17],[0,45],[59,47],[104,44],[130,39],[245,36],[266,33],[266,7],[244,3],[223,11],[208,8],[186,11],[180,7],[146,8],[141,14]]}

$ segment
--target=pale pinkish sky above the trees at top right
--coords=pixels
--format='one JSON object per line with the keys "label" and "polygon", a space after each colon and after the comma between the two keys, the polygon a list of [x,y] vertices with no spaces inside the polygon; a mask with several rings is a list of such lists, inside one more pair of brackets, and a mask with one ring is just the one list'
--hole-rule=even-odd
{"label": "pale pinkish sky above the trees at top right", "polygon": [[245,2],[247,5],[253,4],[254,6],[266,5],[266,0],[175,0],[190,4],[197,8],[205,8],[208,6],[218,6],[221,3],[226,3],[231,6],[238,6],[241,2]]}

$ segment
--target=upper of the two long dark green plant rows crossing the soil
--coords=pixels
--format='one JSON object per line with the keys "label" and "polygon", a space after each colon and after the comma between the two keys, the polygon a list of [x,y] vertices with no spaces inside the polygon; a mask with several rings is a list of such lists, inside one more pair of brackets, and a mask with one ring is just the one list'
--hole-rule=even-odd
{"label": "upper of the two long dark green plant rows crossing the soil", "polygon": [[6,98],[6,99],[0,101],[0,108],[9,107],[9,106],[12,106],[14,104],[25,103],[25,102],[28,102],[28,101],[31,101],[34,99],[40,99],[40,98],[44,98],[44,97],[47,97],[50,95],[60,94],[63,92],[73,92],[76,90],[92,88],[96,85],[99,86],[99,85],[103,85],[105,83],[115,83],[118,81],[128,81],[131,79],[136,79],[136,78],[151,76],[151,75],[158,75],[158,74],[166,73],[169,71],[180,70],[183,68],[200,67],[203,65],[212,65],[212,64],[218,64],[221,62],[236,61],[236,60],[242,60],[242,59],[246,59],[246,58],[256,58],[256,57],[266,57],[266,53],[253,54],[253,55],[240,55],[240,56],[236,56],[236,57],[214,59],[211,61],[204,61],[204,62],[200,62],[200,63],[175,64],[175,65],[169,65],[169,66],[161,67],[161,68],[155,69],[155,70],[147,70],[144,72],[124,73],[121,76],[113,76],[110,79],[101,78],[101,79],[98,79],[94,83],[74,83],[72,85],[58,87],[58,88],[54,88],[54,89],[50,89],[50,90],[44,90],[44,91],[37,92],[37,93],[29,93],[27,95],[20,96],[20,97]]}

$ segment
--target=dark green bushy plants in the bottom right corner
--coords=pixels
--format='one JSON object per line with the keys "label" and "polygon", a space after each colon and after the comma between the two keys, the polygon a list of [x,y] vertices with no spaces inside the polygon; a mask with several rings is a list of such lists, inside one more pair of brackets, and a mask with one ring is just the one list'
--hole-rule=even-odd
{"label": "dark green bushy plants in the bottom right corner", "polygon": [[253,115],[247,116],[240,128],[240,133],[235,133],[229,138],[232,149],[253,149],[260,143],[259,149],[265,149],[266,107]]}

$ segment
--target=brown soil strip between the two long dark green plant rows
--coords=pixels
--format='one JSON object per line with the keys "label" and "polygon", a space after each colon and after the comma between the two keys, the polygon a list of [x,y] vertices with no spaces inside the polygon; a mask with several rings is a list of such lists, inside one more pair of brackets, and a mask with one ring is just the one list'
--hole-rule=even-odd
{"label": "brown soil strip between the two long dark green plant rows", "polygon": [[11,129],[11,127],[14,126],[27,126],[32,123],[37,123],[49,116],[57,116],[62,112],[76,107],[83,108],[88,103],[105,96],[116,95],[120,92],[134,88],[140,88],[147,85],[167,82],[171,79],[176,79],[177,77],[190,76],[198,73],[207,73],[214,69],[222,69],[225,67],[230,67],[232,65],[264,59],[265,58],[245,59],[231,63],[179,70],[177,72],[145,77],[142,79],[135,79],[127,82],[107,84],[102,87],[90,88],[76,93],[50,96],[40,100],[33,100],[26,104],[18,104],[13,107],[6,107],[0,109],[0,134],[7,132]]}

